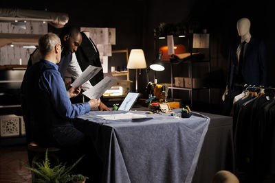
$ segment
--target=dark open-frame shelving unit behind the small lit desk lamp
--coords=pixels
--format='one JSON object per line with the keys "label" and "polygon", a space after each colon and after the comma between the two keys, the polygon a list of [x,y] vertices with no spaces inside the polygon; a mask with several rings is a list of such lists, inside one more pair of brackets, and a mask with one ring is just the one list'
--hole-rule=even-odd
{"label": "dark open-frame shelving unit behind the small lit desk lamp", "polygon": [[[174,41],[175,41],[175,45],[184,45],[186,47],[186,52],[190,53],[190,56],[186,57],[186,58],[174,58],[174,59],[170,59],[169,63],[170,63],[170,86],[168,87],[170,89],[170,95],[171,95],[171,100],[174,100],[174,91],[175,90],[181,90],[181,91],[188,91],[188,97],[190,100],[190,107],[192,108],[193,106],[193,91],[194,90],[208,90],[208,103],[211,104],[211,88],[210,87],[206,87],[206,86],[202,86],[199,88],[194,88],[193,86],[193,79],[194,77],[194,69],[196,69],[197,64],[206,64],[207,66],[207,73],[210,75],[210,70],[211,70],[211,66],[210,66],[210,38],[209,38],[209,34],[184,34],[181,35],[174,35]],[[195,40],[194,40],[194,36],[195,36]],[[202,37],[201,40],[199,40],[198,38]],[[175,38],[177,40],[175,40]],[[205,39],[207,38],[207,39]],[[204,40],[204,42],[203,42]],[[202,41],[202,42],[200,42]],[[206,41],[206,42],[205,42]],[[164,42],[162,41],[162,46],[164,45]],[[195,45],[195,47],[194,47]],[[159,49],[159,38],[155,38],[155,48]],[[200,56],[198,56],[199,54],[197,53],[203,53],[203,58],[200,58]],[[177,56],[177,54],[176,54]],[[185,66],[185,65],[187,66]],[[184,65],[184,66],[182,66]],[[187,67],[188,68],[188,80],[190,80],[190,88],[187,87],[179,87],[179,86],[175,86],[175,76],[179,76],[179,75],[175,75],[175,66],[177,66],[177,68],[184,68]],[[182,66],[182,67],[181,67]],[[192,82],[191,82],[192,81]]]}

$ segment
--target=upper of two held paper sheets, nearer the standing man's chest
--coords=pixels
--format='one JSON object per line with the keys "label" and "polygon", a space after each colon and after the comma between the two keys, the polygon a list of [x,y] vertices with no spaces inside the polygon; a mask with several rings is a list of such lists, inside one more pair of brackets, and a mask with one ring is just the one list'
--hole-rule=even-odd
{"label": "upper of two held paper sheets, nearer the standing man's chest", "polygon": [[85,71],[80,75],[72,84],[71,86],[79,87],[88,80],[91,80],[92,77],[94,77],[99,71],[102,69],[102,67],[92,66],[89,65]]}

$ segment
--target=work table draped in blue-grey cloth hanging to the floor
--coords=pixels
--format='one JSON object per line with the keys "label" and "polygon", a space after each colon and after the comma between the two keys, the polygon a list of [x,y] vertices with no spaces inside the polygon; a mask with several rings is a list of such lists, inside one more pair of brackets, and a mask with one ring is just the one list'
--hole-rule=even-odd
{"label": "work table draped in blue-grey cloth hanging to the floor", "polygon": [[[180,114],[180,110],[177,114]],[[92,111],[76,119],[91,123],[91,136],[103,162],[102,182],[192,182],[210,118],[146,114],[148,119],[104,120]],[[126,113],[126,112],[122,112]]]}

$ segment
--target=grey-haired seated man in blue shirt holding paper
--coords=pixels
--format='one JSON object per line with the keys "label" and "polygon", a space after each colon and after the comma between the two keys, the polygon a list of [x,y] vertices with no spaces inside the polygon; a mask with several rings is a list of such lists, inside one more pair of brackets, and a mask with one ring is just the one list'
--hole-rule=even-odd
{"label": "grey-haired seated man in blue shirt holding paper", "polygon": [[41,61],[25,72],[21,92],[23,117],[28,142],[40,145],[72,147],[84,141],[85,134],[77,130],[71,119],[98,108],[100,99],[72,104],[81,88],[66,90],[56,65],[61,60],[60,38],[48,33],[39,39]]}

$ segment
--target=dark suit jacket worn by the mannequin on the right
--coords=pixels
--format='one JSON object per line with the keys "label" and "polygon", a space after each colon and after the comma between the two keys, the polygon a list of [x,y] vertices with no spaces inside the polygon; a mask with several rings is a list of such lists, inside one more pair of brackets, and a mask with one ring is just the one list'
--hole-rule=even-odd
{"label": "dark suit jacket worn by the mannequin on the right", "polygon": [[[232,46],[228,60],[227,84],[230,89],[234,84],[234,68],[238,64],[236,49],[239,43]],[[267,83],[267,58],[263,41],[251,38],[243,60],[243,84],[265,86]]]}

